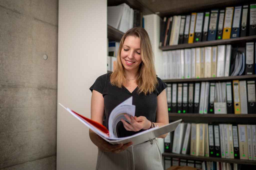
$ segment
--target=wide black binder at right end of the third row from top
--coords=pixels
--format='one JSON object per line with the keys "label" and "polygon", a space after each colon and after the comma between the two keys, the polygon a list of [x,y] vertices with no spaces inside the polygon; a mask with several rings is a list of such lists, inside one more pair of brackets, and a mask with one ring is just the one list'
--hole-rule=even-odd
{"label": "wide black binder at right end of the third row from top", "polygon": [[256,99],[255,99],[255,80],[247,80],[247,108],[248,114],[255,114]]}

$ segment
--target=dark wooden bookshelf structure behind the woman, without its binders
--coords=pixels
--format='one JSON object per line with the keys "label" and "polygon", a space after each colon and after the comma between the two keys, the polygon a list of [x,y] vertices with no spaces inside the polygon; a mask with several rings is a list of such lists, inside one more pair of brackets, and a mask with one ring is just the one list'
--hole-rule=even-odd
{"label": "dark wooden bookshelf structure behind the woman, without its binders", "polygon": [[[128,4],[133,9],[138,9],[143,12],[143,15],[147,14],[157,14],[160,17],[168,17],[173,15],[184,15],[191,14],[191,12],[204,11],[205,9],[213,8],[223,8],[227,6],[235,6],[238,4],[245,4],[253,2],[251,0],[180,0],[180,1],[147,1],[147,0],[108,0],[108,6],[119,5],[121,3]],[[108,38],[109,40],[120,41],[123,32],[111,27],[108,28]],[[159,49],[162,51],[166,50],[176,50],[176,49],[186,49],[186,48],[196,48],[196,47],[207,47],[207,46],[217,46],[231,44],[235,46],[245,47],[246,42],[255,41],[256,36],[238,37],[230,39],[221,39],[213,41],[196,42],[190,44],[178,44],[175,46],[161,46]],[[175,80],[163,80],[165,83],[180,83],[180,82],[202,82],[202,81],[227,81],[227,80],[256,80],[256,75],[241,75],[241,76],[229,76],[229,77],[211,77],[211,78],[191,78],[191,79],[175,79]],[[169,120],[175,121],[178,119],[183,119],[185,122],[192,123],[239,123],[239,124],[255,124],[256,111],[255,114],[184,114],[184,113],[169,113]],[[227,158],[217,158],[217,157],[202,157],[202,156],[191,156],[175,153],[162,153],[164,157],[175,157],[187,160],[199,160],[199,161],[214,161],[214,162],[227,162],[227,163],[238,163],[243,165],[249,165],[250,168],[256,166],[256,161],[251,160],[240,160],[240,159],[227,159]]]}

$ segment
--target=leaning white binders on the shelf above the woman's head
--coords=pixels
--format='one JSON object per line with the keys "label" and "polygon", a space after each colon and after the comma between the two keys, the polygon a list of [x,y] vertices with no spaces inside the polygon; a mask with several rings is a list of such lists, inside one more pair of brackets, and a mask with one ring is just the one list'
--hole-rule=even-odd
{"label": "leaning white binders on the shelf above the woman's head", "polygon": [[126,3],[117,6],[108,6],[108,25],[122,31],[133,27],[142,27],[142,13],[132,9]]}

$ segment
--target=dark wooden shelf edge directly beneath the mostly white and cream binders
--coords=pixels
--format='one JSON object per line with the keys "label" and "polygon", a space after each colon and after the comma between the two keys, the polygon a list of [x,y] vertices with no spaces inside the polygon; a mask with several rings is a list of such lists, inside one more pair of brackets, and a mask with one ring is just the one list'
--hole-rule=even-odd
{"label": "dark wooden shelf edge directly beneath the mostly white and cream binders", "polygon": [[172,83],[172,82],[226,81],[226,80],[241,80],[241,79],[250,79],[250,78],[256,78],[256,74],[241,75],[241,76],[228,76],[228,77],[169,79],[169,80],[163,80],[163,82]]}

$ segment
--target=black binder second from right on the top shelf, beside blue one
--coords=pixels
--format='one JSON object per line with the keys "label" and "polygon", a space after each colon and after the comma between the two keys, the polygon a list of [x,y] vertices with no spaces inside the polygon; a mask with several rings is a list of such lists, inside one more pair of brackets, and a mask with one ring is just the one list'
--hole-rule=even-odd
{"label": "black binder second from right on the top shelf, beside blue one", "polygon": [[240,32],[240,37],[245,37],[248,35],[248,22],[249,22],[249,13],[248,11],[248,5],[249,4],[244,4],[243,5],[243,10],[242,10],[242,20],[241,20],[241,32]]}

